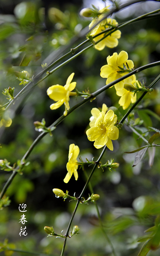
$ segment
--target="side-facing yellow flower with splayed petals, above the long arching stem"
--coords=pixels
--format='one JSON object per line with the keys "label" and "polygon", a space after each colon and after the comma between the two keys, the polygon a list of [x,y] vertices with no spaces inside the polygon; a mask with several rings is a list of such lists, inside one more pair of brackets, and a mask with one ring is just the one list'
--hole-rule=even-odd
{"label": "side-facing yellow flower with splayed petals, above the long arching stem", "polygon": [[59,108],[64,103],[64,106],[65,106],[65,111],[63,113],[64,116],[67,115],[67,110],[70,109],[70,106],[68,103],[70,100],[69,96],[76,95],[76,92],[71,92],[76,87],[76,82],[71,83],[73,76],[74,76],[74,73],[72,73],[68,77],[68,79],[66,81],[66,85],[62,86],[62,85],[57,84],[57,85],[53,85],[47,89],[47,95],[49,96],[49,98],[57,101],[56,103],[51,104],[51,106],[50,106],[51,110]]}

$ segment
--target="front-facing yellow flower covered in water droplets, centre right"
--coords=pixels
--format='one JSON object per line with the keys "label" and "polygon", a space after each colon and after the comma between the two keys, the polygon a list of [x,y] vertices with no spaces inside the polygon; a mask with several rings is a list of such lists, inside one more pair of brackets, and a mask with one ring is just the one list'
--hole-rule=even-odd
{"label": "front-facing yellow flower covered in water droplets, centre right", "polygon": [[95,148],[102,148],[107,146],[113,151],[113,144],[111,140],[117,140],[119,137],[119,130],[115,125],[117,116],[113,110],[109,110],[106,114],[101,112],[95,122],[95,126],[86,131],[88,140],[94,141]]}

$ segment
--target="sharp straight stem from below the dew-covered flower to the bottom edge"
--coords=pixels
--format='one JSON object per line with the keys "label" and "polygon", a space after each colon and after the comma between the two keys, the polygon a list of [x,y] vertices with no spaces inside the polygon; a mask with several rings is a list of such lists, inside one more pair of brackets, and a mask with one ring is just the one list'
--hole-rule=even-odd
{"label": "sharp straight stem from below the dew-covered flower to the bottom edge", "polygon": [[76,207],[74,208],[74,212],[73,212],[73,214],[72,214],[72,218],[70,219],[68,228],[67,228],[67,230],[66,230],[65,239],[64,239],[64,244],[63,244],[63,248],[62,248],[62,252],[61,252],[60,256],[63,256],[64,250],[65,250],[65,246],[66,246],[66,240],[67,240],[67,237],[68,237],[68,234],[69,234],[69,230],[70,230],[70,226],[71,226],[71,224],[72,224],[72,221],[73,221],[74,215],[75,215],[75,213],[76,213],[76,210],[77,210],[77,208],[78,208],[78,205],[79,205],[79,203],[80,203],[80,200],[81,200],[81,198],[82,198],[82,196],[83,196],[83,194],[84,194],[86,188],[88,187],[88,184],[89,184],[89,182],[90,182],[90,179],[92,178],[92,175],[94,174],[94,171],[96,170],[96,167],[98,166],[98,164],[99,164],[99,162],[100,162],[100,160],[101,160],[101,158],[102,158],[102,156],[103,156],[103,154],[104,154],[106,148],[107,148],[107,146],[105,145],[104,148],[103,148],[103,150],[102,150],[102,152],[101,152],[101,154],[100,154],[100,156],[99,156],[99,158],[98,158],[98,160],[96,161],[96,164],[95,164],[94,168],[92,169],[92,172],[90,173],[90,176],[89,176],[89,178],[88,178],[88,180],[87,180],[87,182],[86,182],[86,184],[85,184],[85,186],[84,186],[84,188],[83,188],[83,190],[82,190],[80,196],[78,197],[78,201],[77,201],[77,203],[76,203]]}

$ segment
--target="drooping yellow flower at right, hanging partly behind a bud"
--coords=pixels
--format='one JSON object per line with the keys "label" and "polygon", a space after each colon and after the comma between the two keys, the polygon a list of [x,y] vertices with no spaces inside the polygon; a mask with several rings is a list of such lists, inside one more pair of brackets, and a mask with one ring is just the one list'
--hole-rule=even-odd
{"label": "drooping yellow flower at right, hanging partly behind a bud", "polygon": [[[125,80],[125,85],[124,88],[120,91],[117,91],[117,95],[121,96],[120,100],[119,100],[119,105],[123,107],[123,109],[127,109],[129,107],[129,105],[132,103],[136,102],[137,99],[137,95],[136,93],[130,91],[130,90],[136,90],[137,87],[135,86],[135,82],[136,81],[136,76],[133,75],[133,80],[131,81],[131,77],[126,78]],[[137,82],[138,86],[141,87],[139,85],[139,83]]]}

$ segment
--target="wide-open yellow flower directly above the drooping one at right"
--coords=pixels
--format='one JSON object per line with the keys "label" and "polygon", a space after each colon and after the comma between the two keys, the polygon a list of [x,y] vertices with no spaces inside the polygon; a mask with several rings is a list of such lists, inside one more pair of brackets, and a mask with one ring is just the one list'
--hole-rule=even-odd
{"label": "wide-open yellow flower directly above the drooping one at right", "polygon": [[[112,56],[107,57],[107,65],[101,67],[100,76],[103,78],[107,78],[106,84],[109,84],[127,74],[126,72],[119,73],[120,71],[122,71],[120,68],[123,68],[123,64],[126,66],[126,63],[129,66],[129,69],[134,68],[133,61],[128,60],[127,52],[121,51],[119,54],[117,54],[117,52],[114,52]],[[131,79],[133,80],[133,78]],[[124,83],[124,80],[122,80],[121,82],[115,84],[116,91],[122,90],[124,87]]]}

